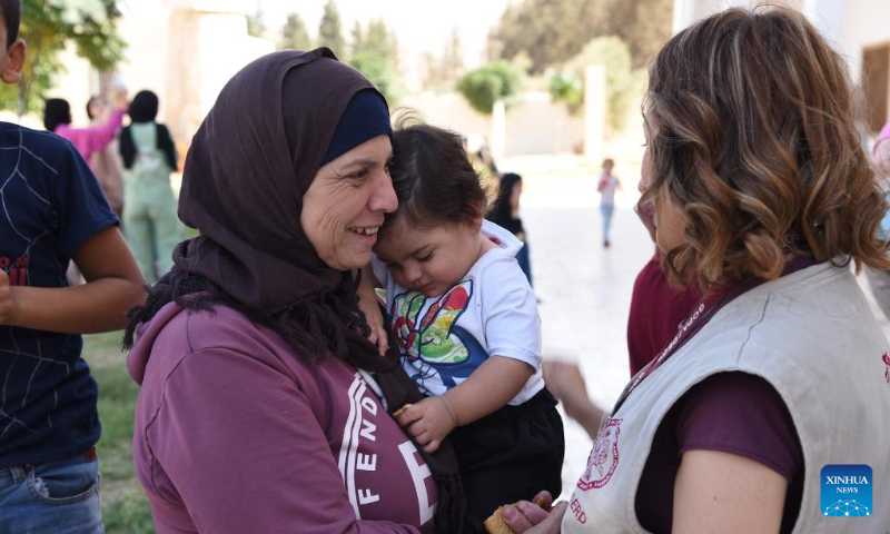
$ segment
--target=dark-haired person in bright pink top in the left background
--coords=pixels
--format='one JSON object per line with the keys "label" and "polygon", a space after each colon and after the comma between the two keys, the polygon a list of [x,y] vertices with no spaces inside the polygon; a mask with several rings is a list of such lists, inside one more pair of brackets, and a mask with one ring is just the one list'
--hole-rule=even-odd
{"label": "dark-haired person in bright pink top in the left background", "polygon": [[118,86],[115,88],[115,110],[105,121],[88,128],[75,128],[71,126],[71,106],[68,100],[50,98],[43,108],[43,127],[71,141],[83,159],[90,162],[93,154],[115,140],[126,110],[127,90]]}

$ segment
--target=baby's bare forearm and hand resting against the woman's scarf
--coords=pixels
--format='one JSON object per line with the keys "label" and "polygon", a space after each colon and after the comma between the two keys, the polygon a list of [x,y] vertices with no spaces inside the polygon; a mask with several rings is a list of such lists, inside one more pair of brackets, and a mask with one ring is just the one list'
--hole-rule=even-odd
{"label": "baby's bare forearm and hand resting against the woman's scarf", "polygon": [[518,359],[492,356],[467,379],[438,397],[427,397],[411,406],[398,418],[399,425],[434,453],[456,426],[467,425],[506,406],[534,374]]}

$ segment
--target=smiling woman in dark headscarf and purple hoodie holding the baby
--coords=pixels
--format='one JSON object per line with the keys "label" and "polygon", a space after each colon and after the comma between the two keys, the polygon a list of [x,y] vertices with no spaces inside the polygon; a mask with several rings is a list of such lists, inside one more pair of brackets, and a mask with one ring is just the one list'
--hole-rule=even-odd
{"label": "smiling woman in dark headscarf and purple hoodie holding the baby", "polygon": [[462,532],[453,452],[389,415],[421,396],[355,293],[397,207],[390,132],[380,93],[322,48],[245,67],[196,134],[179,216],[200,236],[125,337],[159,533]]}

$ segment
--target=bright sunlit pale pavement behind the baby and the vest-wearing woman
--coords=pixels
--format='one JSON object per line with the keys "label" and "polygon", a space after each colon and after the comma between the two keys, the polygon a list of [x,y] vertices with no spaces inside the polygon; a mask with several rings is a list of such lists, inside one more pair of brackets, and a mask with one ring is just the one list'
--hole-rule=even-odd
{"label": "bright sunlit pale pavement behind the baby and the vest-wearing woman", "polygon": [[[522,217],[528,234],[535,290],[541,299],[545,355],[574,353],[591,397],[611,407],[630,378],[626,326],[636,274],[654,251],[649,234],[632,209],[620,206],[613,219],[612,247],[602,248],[600,210],[587,198],[570,198],[575,207],[554,207],[553,198],[523,196]],[[890,334],[890,322],[872,308]],[[586,467],[591,441],[575,422],[565,421],[566,454],[563,498]]]}

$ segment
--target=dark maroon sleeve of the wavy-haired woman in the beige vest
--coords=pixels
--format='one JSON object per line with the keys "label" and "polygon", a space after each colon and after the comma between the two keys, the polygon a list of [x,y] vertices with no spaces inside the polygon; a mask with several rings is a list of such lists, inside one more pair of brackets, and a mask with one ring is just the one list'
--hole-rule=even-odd
{"label": "dark maroon sleeve of the wavy-haired woman in the beige vest", "polygon": [[784,400],[765,379],[721,373],[681,400],[676,443],[686,451],[721,451],[759,462],[789,483],[803,468],[803,451]]}

